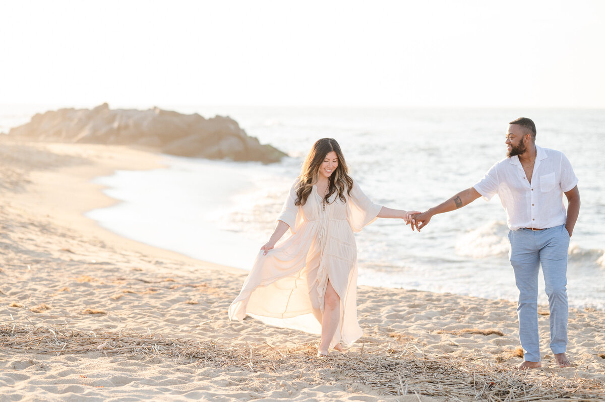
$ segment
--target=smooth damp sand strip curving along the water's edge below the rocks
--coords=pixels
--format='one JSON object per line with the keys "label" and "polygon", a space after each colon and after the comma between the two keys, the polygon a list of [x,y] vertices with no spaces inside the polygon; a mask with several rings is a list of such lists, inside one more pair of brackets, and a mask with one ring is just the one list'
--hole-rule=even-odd
{"label": "smooth damp sand strip curving along the water's edge below the rocks", "polygon": [[[34,170],[30,172],[28,192],[13,196],[13,202],[27,209],[36,210],[40,215],[52,216],[59,224],[77,227],[112,245],[152,254],[158,258],[183,259],[191,264],[220,268],[234,273],[243,273],[234,267],[201,261],[177,251],[145,244],[131,238],[120,236],[105,229],[85,213],[119,204],[118,199],[103,193],[106,187],[93,183],[98,177],[112,175],[116,170],[151,170],[165,167],[162,155],[152,151],[123,146],[73,143],[21,142],[25,146],[38,146],[59,155],[82,154],[85,160],[73,160],[75,166],[63,166],[53,170]],[[108,155],[108,158],[105,156]],[[78,155],[80,157],[80,155]],[[32,186],[33,184],[33,186]],[[57,188],[60,187],[60,188]],[[35,194],[35,196],[32,195]],[[69,195],[69,196],[66,196]]]}

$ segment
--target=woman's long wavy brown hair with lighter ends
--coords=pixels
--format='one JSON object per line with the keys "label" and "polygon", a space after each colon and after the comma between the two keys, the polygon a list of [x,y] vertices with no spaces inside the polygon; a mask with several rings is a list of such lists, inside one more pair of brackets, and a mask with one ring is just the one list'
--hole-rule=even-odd
{"label": "woman's long wavy brown hair with lighter ends", "polygon": [[338,167],[330,175],[328,193],[325,195],[325,203],[329,203],[330,196],[333,193],[338,192],[338,198],[345,202],[344,193],[351,194],[353,188],[353,179],[348,175],[347,163],[344,160],[342,151],[339,144],[334,138],[321,138],[321,140],[315,141],[311,152],[307,155],[307,158],[302,163],[301,174],[298,176],[298,188],[296,189],[296,201],[297,206],[304,205],[309,198],[313,184],[317,183],[319,175],[319,167],[325,160],[325,155],[329,152],[336,152],[338,157]]}

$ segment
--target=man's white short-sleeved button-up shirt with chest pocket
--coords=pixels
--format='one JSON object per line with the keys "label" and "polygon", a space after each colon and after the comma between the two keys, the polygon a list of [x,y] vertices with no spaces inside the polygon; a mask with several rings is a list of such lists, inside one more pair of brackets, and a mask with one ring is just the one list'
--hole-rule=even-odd
{"label": "man's white short-sleeved button-up shirt with chest pocket", "polygon": [[486,201],[498,194],[511,230],[522,227],[548,229],[563,225],[567,213],[563,193],[578,184],[574,169],[562,152],[536,146],[532,181],[517,156],[492,166],[473,187]]}

